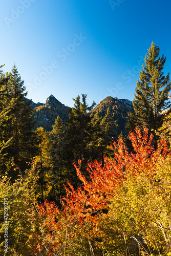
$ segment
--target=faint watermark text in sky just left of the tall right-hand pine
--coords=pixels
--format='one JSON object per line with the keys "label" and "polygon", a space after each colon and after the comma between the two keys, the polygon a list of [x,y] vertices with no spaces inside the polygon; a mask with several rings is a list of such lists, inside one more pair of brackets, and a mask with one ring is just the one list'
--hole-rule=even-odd
{"label": "faint watermark text in sky just left of the tall right-hand pine", "polygon": [[[130,83],[132,78],[135,77],[140,72],[144,58],[141,55],[139,56],[139,58],[140,59],[137,65],[133,66],[132,69],[127,69],[126,72],[122,74],[121,78],[125,80],[126,83]],[[118,94],[118,91],[123,89],[124,89],[123,82],[117,82],[114,87],[107,88],[108,93],[106,93],[103,98],[99,96],[99,99],[101,101],[104,98],[108,97],[109,95],[112,97],[116,97]]]}

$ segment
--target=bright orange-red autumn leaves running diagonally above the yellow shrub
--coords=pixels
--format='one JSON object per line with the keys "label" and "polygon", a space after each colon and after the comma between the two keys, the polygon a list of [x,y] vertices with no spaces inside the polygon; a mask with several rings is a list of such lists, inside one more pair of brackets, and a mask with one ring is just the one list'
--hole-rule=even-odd
{"label": "bright orange-red autumn leaves running diagonally above the yellow shrub", "polygon": [[98,216],[104,211],[108,214],[117,187],[121,187],[127,178],[136,179],[140,173],[154,179],[158,159],[161,156],[166,158],[169,154],[166,142],[160,141],[155,151],[153,135],[148,136],[146,128],[143,133],[135,129],[129,137],[133,146],[131,153],[127,151],[123,140],[119,139],[111,145],[113,158],[105,156],[103,167],[98,161],[88,162],[89,180],[80,171],[81,160],[78,165],[74,163],[80,185],[75,190],[68,182],[67,196],[61,200],[61,210],[48,201],[38,206],[40,232],[35,236],[37,250],[48,250],[48,255],[51,255],[56,251],[64,253],[67,246],[72,248],[77,244],[75,250],[79,251],[81,241],[89,241],[91,234],[98,232]]}

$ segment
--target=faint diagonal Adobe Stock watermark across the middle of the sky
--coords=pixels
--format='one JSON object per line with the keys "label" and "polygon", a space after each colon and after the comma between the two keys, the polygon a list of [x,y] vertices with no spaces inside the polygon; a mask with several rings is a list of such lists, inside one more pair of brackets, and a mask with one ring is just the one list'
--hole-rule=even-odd
{"label": "faint diagonal Adobe Stock watermark across the middle of the sky", "polygon": [[42,71],[38,74],[33,76],[33,83],[28,82],[27,83],[27,89],[30,93],[32,93],[32,90],[39,87],[43,81],[45,81],[55,69],[59,68],[59,61],[65,61],[75,50],[78,46],[82,44],[84,40],[87,39],[86,36],[82,36],[82,33],[75,34],[74,39],[72,41],[72,44],[69,44],[66,48],[62,48],[60,51],[57,52],[56,57],[57,59],[54,59],[51,61],[50,65],[47,67],[42,67]]}

